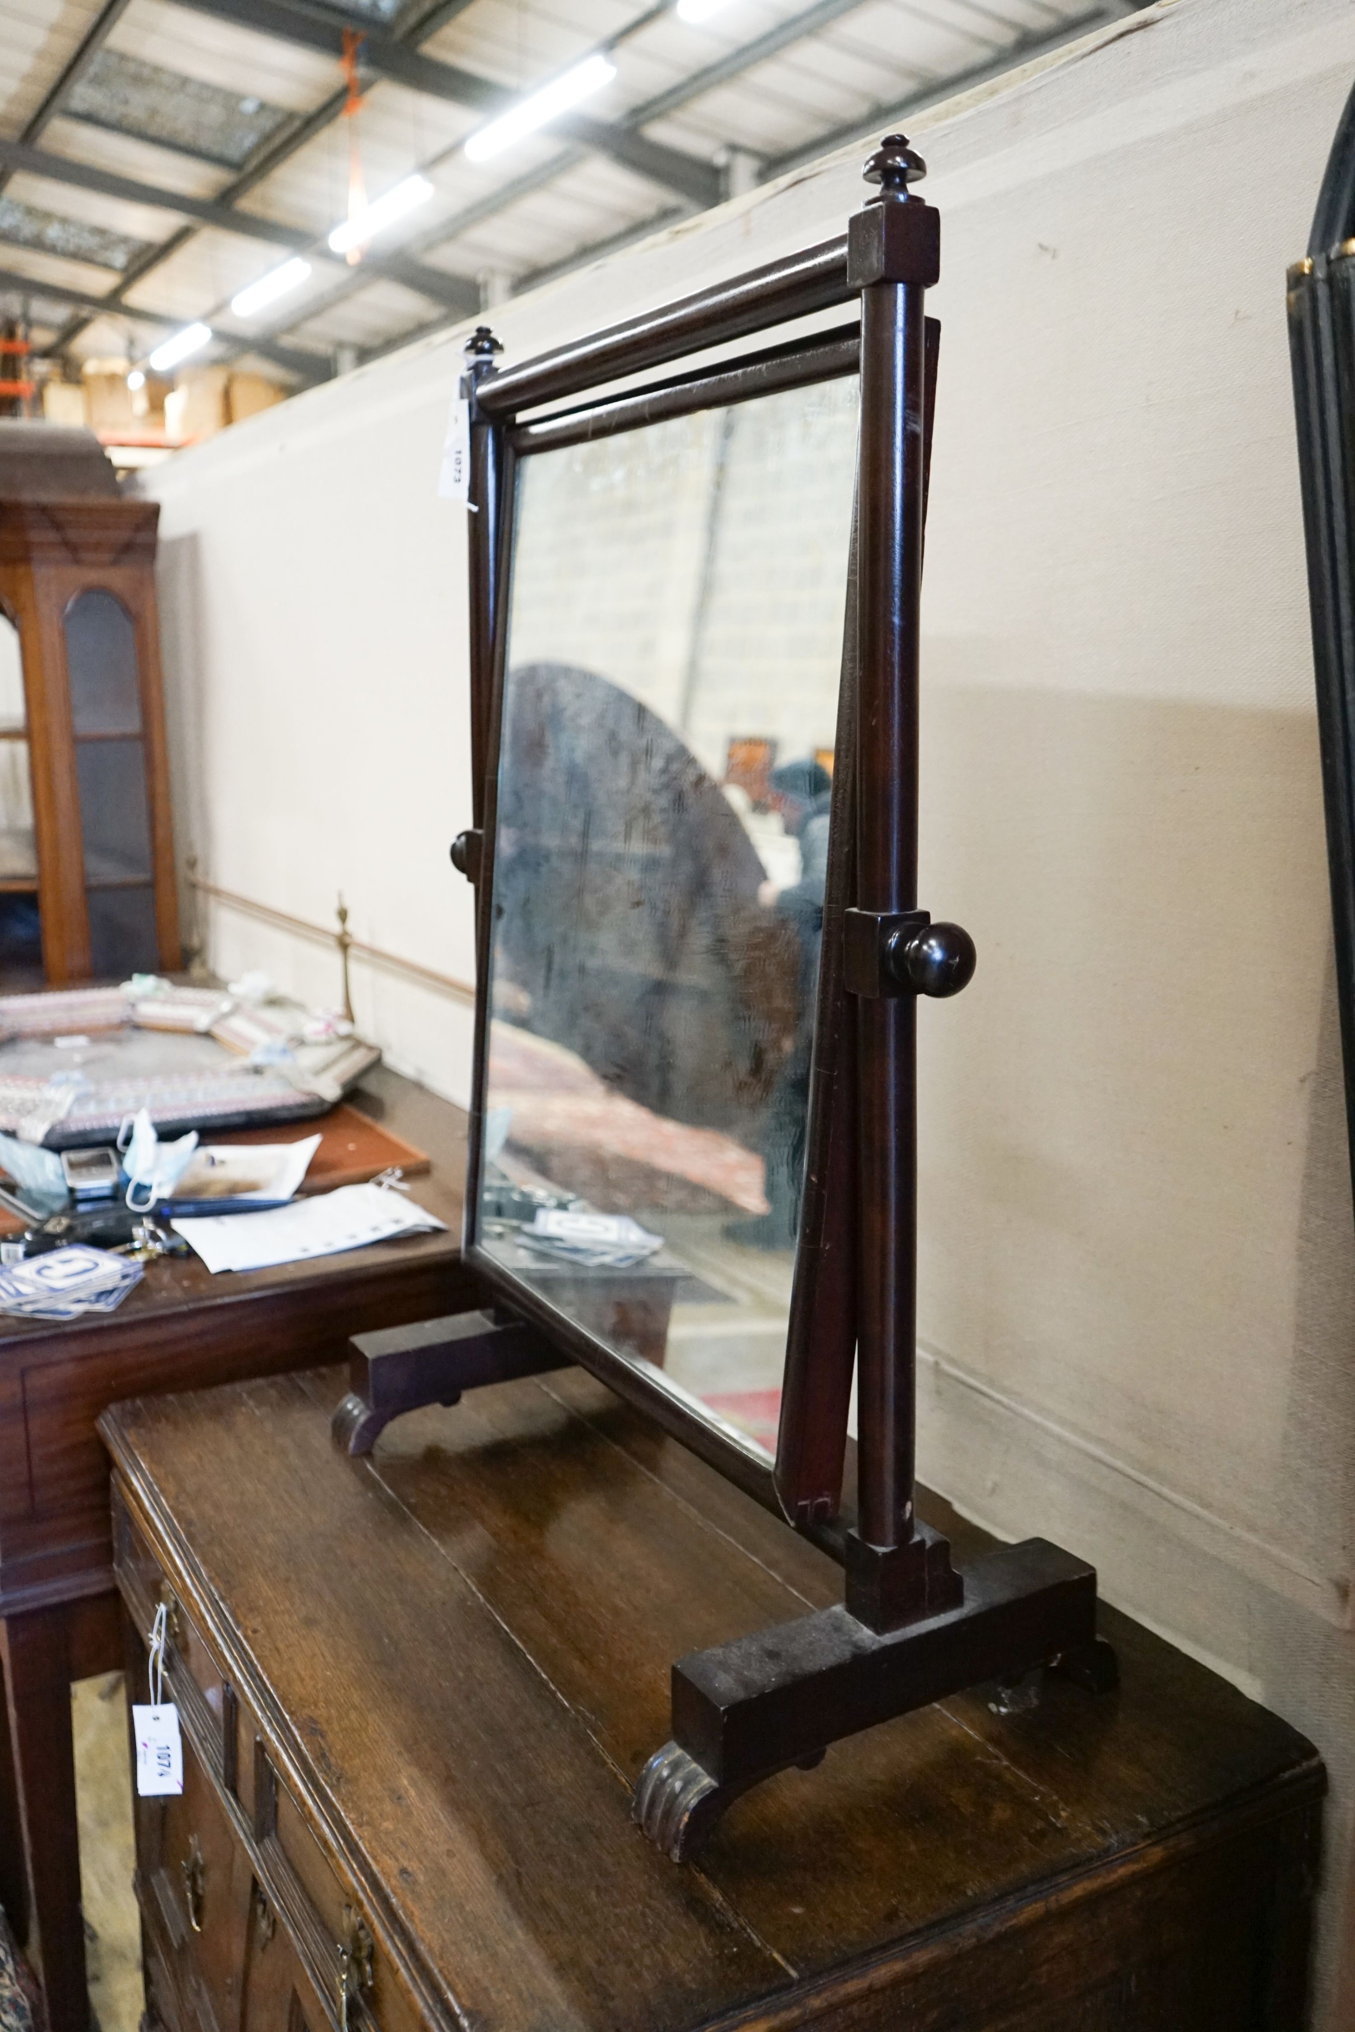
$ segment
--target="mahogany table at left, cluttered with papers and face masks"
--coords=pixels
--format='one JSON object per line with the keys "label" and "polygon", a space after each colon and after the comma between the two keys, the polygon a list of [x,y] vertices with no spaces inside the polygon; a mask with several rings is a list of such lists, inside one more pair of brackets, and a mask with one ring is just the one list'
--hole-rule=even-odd
{"label": "mahogany table at left, cluttered with papers and face masks", "polygon": [[28,1939],[53,2032],[85,2032],[69,1682],[122,1664],[95,1418],[116,1398],[335,1359],[349,1333],[471,1305],[459,1266],[465,1116],[378,1069],[349,1103],[433,1158],[412,1181],[447,1233],[211,1276],[163,1258],[106,1319],[0,1315],[0,1904]]}

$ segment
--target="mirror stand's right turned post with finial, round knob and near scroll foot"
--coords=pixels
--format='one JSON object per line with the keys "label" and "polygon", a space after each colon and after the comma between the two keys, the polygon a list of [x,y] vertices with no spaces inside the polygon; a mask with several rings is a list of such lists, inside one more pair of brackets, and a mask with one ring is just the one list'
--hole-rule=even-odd
{"label": "mirror stand's right turned post with finial, round knob and near scroll foot", "polygon": [[[969,935],[932,925],[916,902],[922,301],[941,260],[939,215],[908,189],[922,173],[890,136],[865,167],[880,195],[847,238],[847,280],[861,293],[859,732],[839,994],[855,1004],[857,1046],[859,1508],[841,1607],[672,1668],[672,1741],[646,1766],[634,1813],[674,1859],[758,1780],[811,1768],[843,1735],[977,1680],[1058,1664],[1091,1687],[1115,1682],[1091,1567],[1034,1538],[959,1573],[914,1512],[916,1006],[918,994],[957,994],[975,967]],[[782,1422],[794,1418],[794,1376],[786,1382]]]}

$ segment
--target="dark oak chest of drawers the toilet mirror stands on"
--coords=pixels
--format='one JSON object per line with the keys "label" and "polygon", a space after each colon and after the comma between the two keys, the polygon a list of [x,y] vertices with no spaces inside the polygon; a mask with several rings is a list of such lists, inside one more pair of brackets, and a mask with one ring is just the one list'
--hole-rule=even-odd
{"label": "dark oak chest of drawers the toilet mirror stands on", "polygon": [[1119,1693],[904,1715],[674,1865],[628,1815],[670,1660],[839,1573],[579,1370],[370,1459],[343,1386],[102,1422],[140,1689],[177,1622],[185,1794],[138,1800],[169,2032],[1300,2032],[1322,1766],[1170,1644],[1107,1609]]}

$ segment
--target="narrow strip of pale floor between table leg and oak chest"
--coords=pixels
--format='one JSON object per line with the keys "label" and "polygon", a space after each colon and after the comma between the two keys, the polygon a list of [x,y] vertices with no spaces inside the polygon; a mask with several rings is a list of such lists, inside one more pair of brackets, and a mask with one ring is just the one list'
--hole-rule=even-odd
{"label": "narrow strip of pale floor between table leg and oak chest", "polygon": [[71,1687],[71,1723],[89,2002],[100,2032],[136,2032],[146,1997],[132,1894],[136,1849],[122,1672],[104,1672]]}

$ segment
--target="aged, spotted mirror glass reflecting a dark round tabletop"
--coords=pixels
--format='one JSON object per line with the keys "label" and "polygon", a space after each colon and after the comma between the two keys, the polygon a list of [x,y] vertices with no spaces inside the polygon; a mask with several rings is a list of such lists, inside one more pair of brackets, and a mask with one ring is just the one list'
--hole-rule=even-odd
{"label": "aged, spotted mirror glass reflecting a dark round tabletop", "polygon": [[774,1449],[857,380],[518,465],[479,1242]]}

